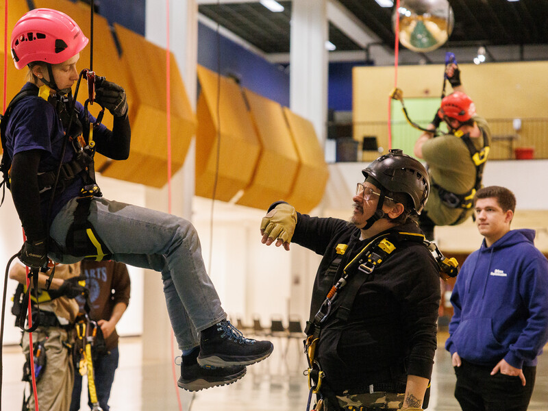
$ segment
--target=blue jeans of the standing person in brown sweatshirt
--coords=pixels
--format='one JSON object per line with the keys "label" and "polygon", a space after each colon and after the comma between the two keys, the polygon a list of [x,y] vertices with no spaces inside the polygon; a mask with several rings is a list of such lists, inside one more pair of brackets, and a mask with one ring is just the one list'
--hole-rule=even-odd
{"label": "blue jeans of the standing person in brown sweatshirt", "polygon": [[[103,411],[110,410],[108,399],[110,398],[110,388],[114,382],[114,372],[118,368],[119,351],[118,347],[110,350],[110,354],[97,356],[93,361],[93,375],[95,377],[95,391],[97,392],[97,401]],[[73,397],[71,401],[71,411],[80,409],[80,394],[82,394],[82,375],[77,371],[74,376]],[[88,405],[91,409],[91,400],[88,393]]]}

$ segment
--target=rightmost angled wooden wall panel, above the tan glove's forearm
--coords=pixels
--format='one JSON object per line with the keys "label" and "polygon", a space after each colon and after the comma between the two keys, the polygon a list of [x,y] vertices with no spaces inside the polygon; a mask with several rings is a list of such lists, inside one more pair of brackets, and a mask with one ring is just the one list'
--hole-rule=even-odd
{"label": "rightmost angled wooden wall panel, above the tan glove's forearm", "polygon": [[284,114],[301,159],[299,174],[292,187],[291,195],[286,201],[297,211],[308,213],[320,203],[323,197],[329,170],[325,163],[323,149],[316,137],[314,125],[286,107],[284,107]]}

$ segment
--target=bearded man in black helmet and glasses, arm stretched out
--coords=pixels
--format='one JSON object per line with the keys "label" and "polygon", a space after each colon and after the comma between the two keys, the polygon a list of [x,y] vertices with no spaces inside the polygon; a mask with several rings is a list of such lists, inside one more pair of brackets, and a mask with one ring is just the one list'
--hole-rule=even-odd
{"label": "bearded man in black helmet and glasses, arm stretched out", "polygon": [[[375,410],[422,410],[440,302],[438,266],[416,223],[428,175],[401,150],[390,150],[362,173],[349,221],[300,214],[279,201],[262,219],[262,243],[289,250],[294,242],[323,256],[306,330],[308,341],[315,340],[309,364],[325,373],[314,409],[375,403]],[[383,238],[389,243],[373,247]],[[342,279],[345,286],[326,303]]]}

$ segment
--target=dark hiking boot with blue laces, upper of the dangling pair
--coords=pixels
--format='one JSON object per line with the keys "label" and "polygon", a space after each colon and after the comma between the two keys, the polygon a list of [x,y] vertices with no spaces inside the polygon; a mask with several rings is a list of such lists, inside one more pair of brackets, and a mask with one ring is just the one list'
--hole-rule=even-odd
{"label": "dark hiking boot with blue laces, upper of the dangling pair", "polygon": [[230,321],[223,320],[201,332],[198,364],[249,365],[264,360],[273,349],[270,341],[245,338]]}

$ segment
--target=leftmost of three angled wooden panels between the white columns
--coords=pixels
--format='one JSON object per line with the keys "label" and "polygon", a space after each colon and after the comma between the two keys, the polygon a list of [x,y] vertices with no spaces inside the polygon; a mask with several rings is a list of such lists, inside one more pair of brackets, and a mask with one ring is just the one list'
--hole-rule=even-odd
{"label": "leftmost of three angled wooden panels between the white columns", "polygon": [[229,201],[253,178],[260,155],[259,138],[251,123],[242,89],[234,80],[219,78],[203,66],[198,66],[198,79],[201,94],[197,105],[195,192],[201,197],[212,198],[219,151],[215,199]]}

